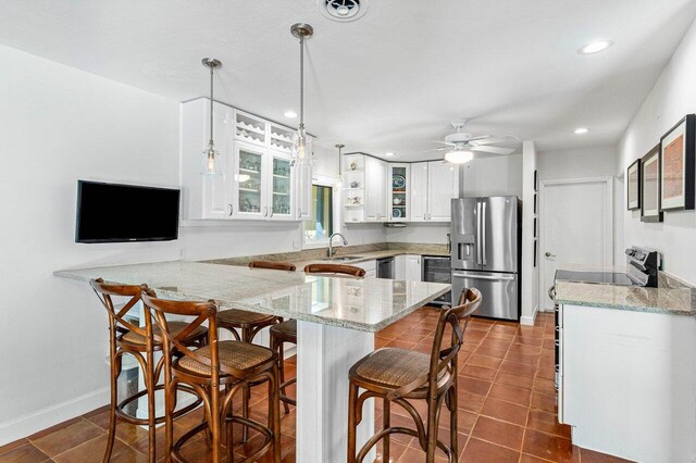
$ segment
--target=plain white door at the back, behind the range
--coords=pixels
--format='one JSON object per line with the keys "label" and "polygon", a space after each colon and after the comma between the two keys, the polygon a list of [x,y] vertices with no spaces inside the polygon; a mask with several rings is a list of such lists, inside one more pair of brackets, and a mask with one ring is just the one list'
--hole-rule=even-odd
{"label": "plain white door at the back, behind the range", "polygon": [[548,288],[568,264],[602,267],[613,263],[611,178],[542,183],[539,262],[540,308],[552,310]]}

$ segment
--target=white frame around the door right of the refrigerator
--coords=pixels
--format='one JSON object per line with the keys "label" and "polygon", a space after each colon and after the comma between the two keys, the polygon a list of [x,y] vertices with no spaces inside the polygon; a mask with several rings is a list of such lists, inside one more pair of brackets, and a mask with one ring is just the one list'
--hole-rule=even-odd
{"label": "white frame around the door right of the refrigerator", "polygon": [[546,248],[546,237],[544,236],[544,227],[546,226],[546,217],[543,214],[544,208],[546,205],[546,188],[550,186],[559,186],[559,185],[577,185],[577,184],[604,184],[605,192],[606,192],[606,214],[605,220],[607,221],[607,230],[606,230],[606,245],[605,245],[605,254],[608,256],[608,261],[610,265],[614,263],[614,243],[613,243],[613,215],[614,215],[614,204],[613,204],[613,177],[584,177],[584,178],[566,178],[558,180],[542,180],[539,182],[539,209],[538,209],[538,249],[537,249],[537,259],[539,263],[539,287],[538,287],[538,308],[539,312],[544,312],[544,305],[542,304],[542,300],[546,297],[546,292],[548,288],[546,288],[546,259],[544,258],[544,249]]}

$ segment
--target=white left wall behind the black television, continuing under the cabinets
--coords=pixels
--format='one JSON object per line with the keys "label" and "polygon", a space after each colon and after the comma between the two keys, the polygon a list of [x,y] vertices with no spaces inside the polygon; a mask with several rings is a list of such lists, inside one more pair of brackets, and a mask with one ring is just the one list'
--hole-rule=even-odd
{"label": "white left wall behind the black television, continuing under the cabinets", "polygon": [[[78,178],[178,186],[179,103],[5,47],[0,68],[0,371],[17,378],[0,381],[1,446],[108,403],[107,314],[87,285],[53,271],[290,251],[300,226],[196,224],[176,241],[75,243]],[[315,172],[336,177],[332,157],[318,149]],[[384,236],[374,226],[359,241]]]}

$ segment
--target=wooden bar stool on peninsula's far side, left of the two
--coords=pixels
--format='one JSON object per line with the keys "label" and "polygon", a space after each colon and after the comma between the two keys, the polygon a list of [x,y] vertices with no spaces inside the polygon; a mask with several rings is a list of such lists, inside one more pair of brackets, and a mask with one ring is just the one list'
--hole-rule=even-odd
{"label": "wooden bar stool on peninsula's far side, left of the two", "polygon": [[[249,262],[250,268],[266,268],[295,272],[297,267],[289,262],[276,262],[276,261],[251,261]],[[269,315],[265,313],[250,312],[238,309],[227,309],[217,312],[217,326],[229,330],[232,335],[238,341],[253,342],[253,338],[259,331],[266,326],[272,326],[282,322],[275,315]],[[254,385],[250,385],[254,386]],[[241,396],[243,416],[249,416],[249,396],[250,391],[247,388]],[[243,441],[247,441],[248,429],[245,427],[243,430]]]}

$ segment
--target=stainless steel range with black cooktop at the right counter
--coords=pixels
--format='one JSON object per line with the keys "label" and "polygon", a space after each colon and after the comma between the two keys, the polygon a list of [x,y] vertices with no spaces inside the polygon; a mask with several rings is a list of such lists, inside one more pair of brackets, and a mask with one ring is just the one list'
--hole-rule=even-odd
{"label": "stainless steel range with black cooktop at the right counter", "polygon": [[[548,289],[548,297],[556,301],[556,285],[559,281],[588,283],[594,285],[639,286],[657,288],[658,271],[660,268],[660,253],[633,246],[625,251],[626,273],[589,272],[558,270],[554,276],[554,286]],[[554,320],[556,322],[555,364],[556,389],[559,387],[560,375],[560,321],[558,303],[554,303]]]}

